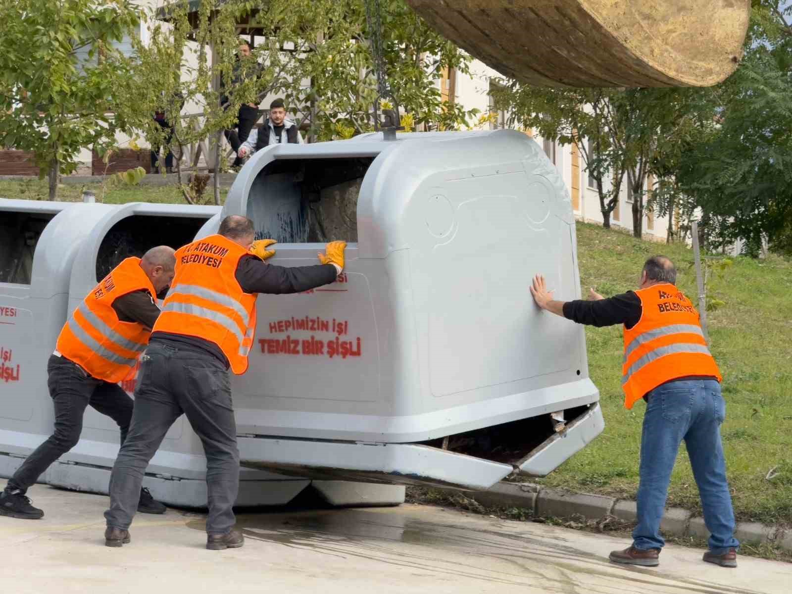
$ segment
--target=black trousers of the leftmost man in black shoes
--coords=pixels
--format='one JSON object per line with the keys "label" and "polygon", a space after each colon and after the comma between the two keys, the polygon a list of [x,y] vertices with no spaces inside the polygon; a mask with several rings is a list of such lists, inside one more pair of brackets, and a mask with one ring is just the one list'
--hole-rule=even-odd
{"label": "black trousers of the leftmost man in black shoes", "polygon": [[6,485],[8,490],[21,489],[25,493],[51,463],[77,444],[86,406],[93,406],[116,421],[121,430],[121,444],[127,437],[133,401],[117,383],[93,378],[79,365],[56,355],[49,358],[47,374],[50,397],[55,404],[55,431],[13,474]]}

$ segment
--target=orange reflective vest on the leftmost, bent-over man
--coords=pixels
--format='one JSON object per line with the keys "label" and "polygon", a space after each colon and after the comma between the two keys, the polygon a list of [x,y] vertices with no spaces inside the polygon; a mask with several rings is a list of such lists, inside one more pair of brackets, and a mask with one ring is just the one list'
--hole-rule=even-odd
{"label": "orange reflective vest on the leftmost, bent-over man", "polygon": [[156,299],[157,291],[140,268],[140,258],[127,258],[74,310],[60,331],[57,351],[97,379],[116,383],[126,378],[146,349],[151,331],[140,322],[121,322],[112,303],[141,290]]}

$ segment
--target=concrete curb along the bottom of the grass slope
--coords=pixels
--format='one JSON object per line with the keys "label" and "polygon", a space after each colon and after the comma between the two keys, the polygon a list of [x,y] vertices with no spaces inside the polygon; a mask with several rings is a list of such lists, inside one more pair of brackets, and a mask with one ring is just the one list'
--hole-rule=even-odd
{"label": "concrete curb along the bottom of the grass slope", "polygon": [[[524,508],[532,516],[583,516],[586,520],[601,520],[606,516],[613,516],[617,520],[634,523],[638,515],[634,501],[544,489],[529,482],[499,482],[487,491],[464,494],[482,505]],[[683,508],[666,508],[660,527],[665,535],[695,536],[699,539],[710,536],[704,519],[693,517],[690,511]],[[785,531],[780,526],[739,522],[734,536],[743,544],[770,543],[784,550],[792,550],[792,530]]]}

